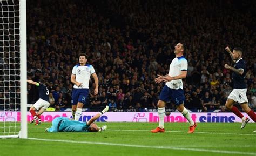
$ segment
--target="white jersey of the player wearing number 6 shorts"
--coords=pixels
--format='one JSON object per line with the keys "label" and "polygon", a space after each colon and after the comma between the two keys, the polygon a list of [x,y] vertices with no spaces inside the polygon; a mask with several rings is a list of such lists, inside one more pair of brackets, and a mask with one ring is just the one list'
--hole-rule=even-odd
{"label": "white jersey of the player wearing number 6 shorts", "polygon": [[[181,71],[187,71],[187,60],[184,56],[176,57],[172,60],[169,69],[169,76],[178,76],[179,74],[181,74]],[[171,80],[165,85],[167,85],[171,89],[183,89],[182,79]]]}

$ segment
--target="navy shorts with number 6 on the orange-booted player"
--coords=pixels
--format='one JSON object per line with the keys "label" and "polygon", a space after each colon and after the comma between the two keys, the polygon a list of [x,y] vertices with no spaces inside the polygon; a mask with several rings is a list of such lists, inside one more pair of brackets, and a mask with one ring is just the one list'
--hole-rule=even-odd
{"label": "navy shorts with number 6 on the orange-booted player", "polygon": [[160,93],[159,100],[164,101],[165,103],[173,101],[177,106],[183,104],[185,101],[183,89],[170,89],[168,86],[164,86],[163,90]]}

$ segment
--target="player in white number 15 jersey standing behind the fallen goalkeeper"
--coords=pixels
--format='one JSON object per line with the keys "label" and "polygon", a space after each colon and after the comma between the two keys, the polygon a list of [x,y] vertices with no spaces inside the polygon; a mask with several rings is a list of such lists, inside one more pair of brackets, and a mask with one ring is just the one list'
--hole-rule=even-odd
{"label": "player in white number 15 jersey standing behind the fallen goalkeeper", "polygon": [[74,84],[72,91],[72,116],[73,119],[79,120],[82,115],[83,105],[89,95],[89,82],[92,75],[95,80],[94,94],[98,94],[99,80],[92,65],[86,64],[87,55],[79,54],[79,64],[75,65],[72,70],[71,82]]}

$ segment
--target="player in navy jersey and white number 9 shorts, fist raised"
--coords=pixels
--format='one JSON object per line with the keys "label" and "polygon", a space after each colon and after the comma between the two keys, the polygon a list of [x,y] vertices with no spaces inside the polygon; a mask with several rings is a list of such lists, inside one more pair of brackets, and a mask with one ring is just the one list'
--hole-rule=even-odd
{"label": "player in navy jersey and white number 9 shorts, fist raised", "polygon": [[246,96],[247,86],[245,83],[245,61],[242,59],[241,48],[234,48],[233,52],[231,52],[230,48],[227,46],[225,50],[230,54],[233,62],[235,63],[234,67],[225,64],[226,69],[233,71],[232,78],[234,83],[234,89],[228,96],[225,106],[228,110],[232,111],[235,115],[242,119],[242,129],[250,119],[248,117],[244,117],[238,108],[233,106],[234,103],[239,103],[242,110],[245,111],[254,122],[256,121],[256,115],[248,106],[248,99]]}

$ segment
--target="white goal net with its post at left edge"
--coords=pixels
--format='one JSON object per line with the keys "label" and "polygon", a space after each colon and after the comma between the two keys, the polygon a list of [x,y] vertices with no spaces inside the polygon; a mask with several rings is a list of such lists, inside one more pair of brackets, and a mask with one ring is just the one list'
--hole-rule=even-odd
{"label": "white goal net with its post at left edge", "polygon": [[0,138],[26,138],[25,0],[0,0]]}

